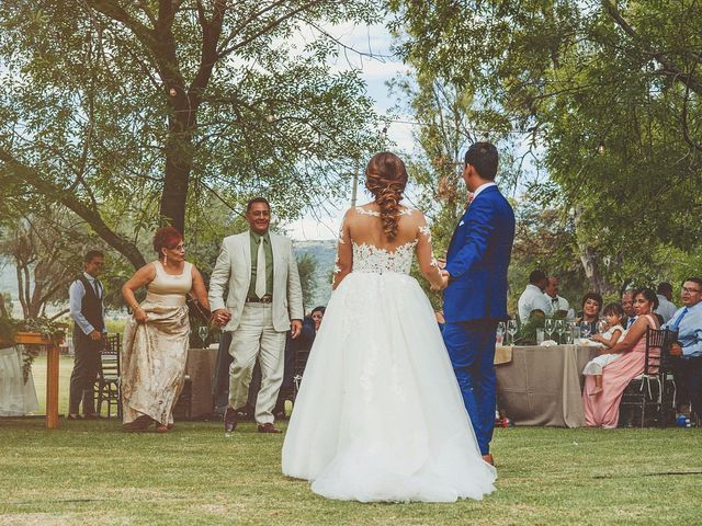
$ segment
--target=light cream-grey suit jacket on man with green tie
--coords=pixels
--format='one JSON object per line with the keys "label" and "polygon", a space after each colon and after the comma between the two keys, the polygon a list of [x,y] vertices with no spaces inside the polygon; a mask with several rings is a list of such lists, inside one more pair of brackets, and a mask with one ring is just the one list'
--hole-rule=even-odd
{"label": "light cream-grey suit jacket on man with green tie", "polygon": [[[292,241],[272,232],[270,237],[273,251],[273,328],[284,332],[290,330],[290,320],[302,320],[304,317],[303,289]],[[210,278],[210,308],[213,312],[226,308],[231,315],[231,320],[223,330],[235,331],[239,327],[250,282],[251,242],[247,230],[224,239]],[[225,304],[227,285],[229,294]]]}

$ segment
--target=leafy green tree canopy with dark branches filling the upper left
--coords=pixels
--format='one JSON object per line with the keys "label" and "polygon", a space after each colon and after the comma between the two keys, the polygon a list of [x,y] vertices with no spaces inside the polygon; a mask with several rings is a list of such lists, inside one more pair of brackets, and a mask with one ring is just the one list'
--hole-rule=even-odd
{"label": "leafy green tree canopy with dark branches filling the upper left", "polygon": [[331,71],[340,47],[321,28],[375,22],[375,0],[10,3],[3,198],[71,209],[134,267],[144,237],[191,228],[213,192],[295,218],[376,145],[359,73]]}

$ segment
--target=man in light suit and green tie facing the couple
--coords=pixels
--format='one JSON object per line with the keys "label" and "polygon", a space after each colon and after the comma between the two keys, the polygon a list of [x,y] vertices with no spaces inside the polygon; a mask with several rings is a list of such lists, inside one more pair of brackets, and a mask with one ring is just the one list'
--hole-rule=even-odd
{"label": "man in light suit and green tie facing the couple", "polygon": [[[263,197],[247,204],[249,230],[222,242],[210,278],[210,306],[215,323],[231,331],[229,404],[225,431],[231,432],[247,402],[251,373],[261,365],[256,402],[259,433],[280,433],[273,408],[283,381],[285,336],[302,331],[303,291],[290,239],[269,232],[271,207]],[[229,287],[226,304],[224,291]]]}

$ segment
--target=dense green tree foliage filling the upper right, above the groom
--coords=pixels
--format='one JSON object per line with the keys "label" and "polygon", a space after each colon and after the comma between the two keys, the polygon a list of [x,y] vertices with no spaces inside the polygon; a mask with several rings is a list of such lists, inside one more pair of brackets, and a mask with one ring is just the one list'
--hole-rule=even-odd
{"label": "dense green tree foliage filling the upper right, above the groom", "polygon": [[535,203],[571,221],[564,247],[588,288],[667,278],[661,252],[671,249],[692,261],[702,236],[699,4],[389,3],[398,50],[420,76],[473,93],[523,134],[521,149],[551,178]]}

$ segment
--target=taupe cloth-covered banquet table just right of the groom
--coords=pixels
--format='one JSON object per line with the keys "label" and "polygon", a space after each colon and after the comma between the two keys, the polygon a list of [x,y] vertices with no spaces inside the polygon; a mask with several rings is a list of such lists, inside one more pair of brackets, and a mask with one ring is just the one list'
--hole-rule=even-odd
{"label": "taupe cloth-covered banquet table just right of the groom", "polygon": [[516,425],[581,427],[582,368],[597,355],[596,346],[498,347],[498,408]]}

